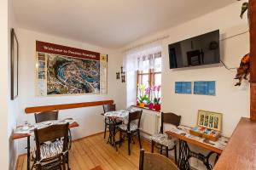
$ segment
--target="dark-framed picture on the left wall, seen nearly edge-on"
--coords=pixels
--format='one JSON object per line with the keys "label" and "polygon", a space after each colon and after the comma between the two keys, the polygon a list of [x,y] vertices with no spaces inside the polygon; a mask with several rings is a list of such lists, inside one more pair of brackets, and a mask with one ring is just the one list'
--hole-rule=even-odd
{"label": "dark-framed picture on the left wall, seen nearly edge-on", "polygon": [[18,61],[19,42],[15,34],[15,29],[11,29],[11,99],[18,96]]}

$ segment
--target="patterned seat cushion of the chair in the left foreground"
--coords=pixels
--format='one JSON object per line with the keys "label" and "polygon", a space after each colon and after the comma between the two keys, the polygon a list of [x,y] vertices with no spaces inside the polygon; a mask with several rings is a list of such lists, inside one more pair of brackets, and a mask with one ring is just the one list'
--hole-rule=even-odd
{"label": "patterned seat cushion of the chair in the left foreground", "polygon": [[[40,146],[41,159],[48,159],[58,156],[63,151],[63,141],[58,139],[55,142],[44,143]],[[36,148],[32,150],[32,158],[36,158]]]}

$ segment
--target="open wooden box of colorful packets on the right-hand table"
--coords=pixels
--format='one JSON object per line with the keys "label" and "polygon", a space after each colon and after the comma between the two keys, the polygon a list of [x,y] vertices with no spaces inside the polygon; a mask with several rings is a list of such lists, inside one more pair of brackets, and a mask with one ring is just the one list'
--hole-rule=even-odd
{"label": "open wooden box of colorful packets on the right-hand table", "polygon": [[190,134],[212,141],[218,140],[222,128],[222,114],[212,111],[198,111],[197,126]]}

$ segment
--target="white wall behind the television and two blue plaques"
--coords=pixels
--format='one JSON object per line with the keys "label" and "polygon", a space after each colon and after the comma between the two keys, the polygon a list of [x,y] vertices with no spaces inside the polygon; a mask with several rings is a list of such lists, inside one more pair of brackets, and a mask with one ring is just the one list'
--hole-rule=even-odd
{"label": "white wall behind the television and two blue plaques", "polygon": [[[181,115],[183,125],[194,127],[197,111],[200,109],[217,111],[223,113],[223,134],[230,137],[241,116],[249,116],[249,83],[243,82],[241,87],[235,87],[236,81],[233,78],[236,71],[228,71],[223,65],[169,69],[168,44],[172,42],[217,29],[220,30],[221,39],[247,31],[246,17],[244,20],[239,18],[240,9],[241,3],[232,3],[230,6],[190,20],[183,25],[156,32],[125,47],[133,47],[157,37],[170,36],[162,41],[162,111],[172,111]],[[221,41],[221,55],[224,63],[230,67],[237,67],[241,57],[248,51],[248,33]],[[177,81],[216,81],[216,96],[175,94],[174,84]]]}

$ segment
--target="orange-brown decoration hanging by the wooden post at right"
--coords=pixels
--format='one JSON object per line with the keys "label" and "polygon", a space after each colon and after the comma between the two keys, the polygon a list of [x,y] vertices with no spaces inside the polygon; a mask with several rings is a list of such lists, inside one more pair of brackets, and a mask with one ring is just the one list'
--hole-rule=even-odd
{"label": "orange-brown decoration hanging by the wooden post at right", "polygon": [[246,54],[241,58],[241,63],[239,68],[237,69],[235,79],[238,79],[239,82],[236,82],[235,86],[241,86],[242,78],[247,80],[247,76],[250,73],[250,55]]}

